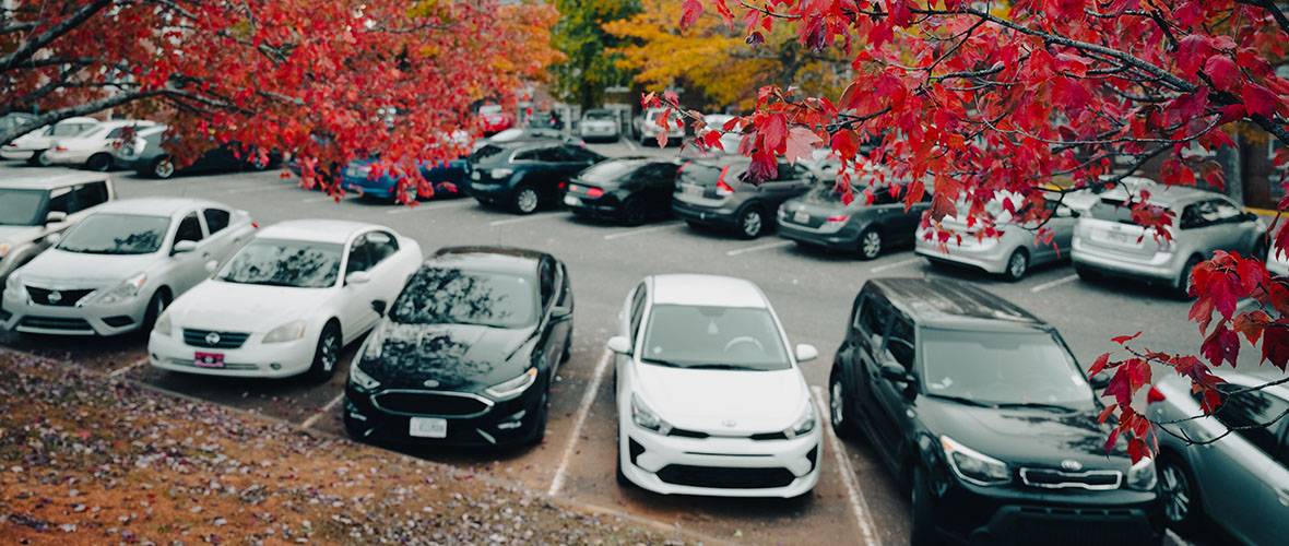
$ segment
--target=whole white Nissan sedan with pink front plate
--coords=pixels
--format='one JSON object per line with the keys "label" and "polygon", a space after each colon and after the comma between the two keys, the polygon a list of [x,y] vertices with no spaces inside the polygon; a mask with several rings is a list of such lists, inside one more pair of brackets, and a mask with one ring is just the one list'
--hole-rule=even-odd
{"label": "whole white Nissan sedan with pink front plate", "polygon": [[148,361],[177,372],[325,381],[420,263],[416,241],[382,225],[273,224],[170,305],[152,328]]}

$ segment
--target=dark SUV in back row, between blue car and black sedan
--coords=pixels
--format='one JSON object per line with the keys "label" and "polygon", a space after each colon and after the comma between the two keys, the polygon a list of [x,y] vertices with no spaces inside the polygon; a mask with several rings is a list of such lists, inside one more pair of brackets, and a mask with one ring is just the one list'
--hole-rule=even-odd
{"label": "dark SUV in back row, between blue car and black sedan", "polygon": [[559,201],[559,185],[605,160],[580,146],[552,140],[489,144],[470,155],[465,193],[480,203],[532,214]]}

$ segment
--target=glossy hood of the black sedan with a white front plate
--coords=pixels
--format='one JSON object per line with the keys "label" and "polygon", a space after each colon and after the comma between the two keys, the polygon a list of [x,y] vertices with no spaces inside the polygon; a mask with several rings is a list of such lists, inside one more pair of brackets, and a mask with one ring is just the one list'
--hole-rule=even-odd
{"label": "glossy hood of the black sedan with a white front plate", "polygon": [[[481,393],[528,368],[534,328],[476,325],[396,325],[373,331],[362,371],[384,389]],[[379,354],[375,349],[379,346]],[[431,385],[427,385],[431,381]],[[437,381],[437,384],[434,384]]]}

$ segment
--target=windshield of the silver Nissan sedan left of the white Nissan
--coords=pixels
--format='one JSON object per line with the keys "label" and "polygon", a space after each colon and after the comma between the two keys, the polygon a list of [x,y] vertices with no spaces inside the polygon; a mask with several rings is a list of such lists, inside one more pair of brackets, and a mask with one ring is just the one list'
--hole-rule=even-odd
{"label": "windshield of the silver Nissan sedan left of the white Nissan", "polygon": [[152,254],[161,249],[170,219],[134,214],[94,214],[76,224],[59,250],[84,254]]}

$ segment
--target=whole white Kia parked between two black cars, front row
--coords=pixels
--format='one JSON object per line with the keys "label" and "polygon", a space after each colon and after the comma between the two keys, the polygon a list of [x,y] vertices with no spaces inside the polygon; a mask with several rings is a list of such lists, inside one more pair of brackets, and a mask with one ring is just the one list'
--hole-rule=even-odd
{"label": "whole white Kia parked between two black cars, front row", "polygon": [[644,278],[617,354],[617,479],[664,494],[797,497],[819,482],[819,413],[788,335],[750,281]]}

